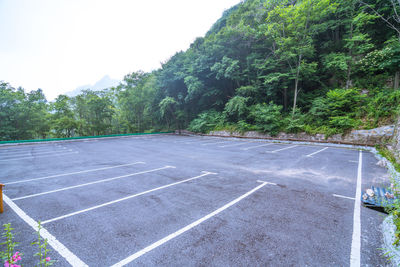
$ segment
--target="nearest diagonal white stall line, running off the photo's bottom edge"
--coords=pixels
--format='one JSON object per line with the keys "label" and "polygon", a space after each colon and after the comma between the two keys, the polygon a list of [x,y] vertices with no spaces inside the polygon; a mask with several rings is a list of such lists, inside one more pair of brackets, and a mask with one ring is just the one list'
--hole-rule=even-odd
{"label": "nearest diagonal white stall line, running off the photo's bottom edge", "polygon": [[215,211],[213,211],[213,212],[207,214],[206,216],[204,216],[204,217],[198,219],[197,221],[192,222],[191,224],[189,224],[189,225],[187,225],[187,226],[185,226],[185,227],[179,229],[178,231],[176,231],[176,232],[174,232],[174,233],[172,233],[172,234],[170,234],[170,235],[168,235],[168,236],[166,236],[166,237],[164,237],[164,238],[162,238],[162,239],[160,239],[160,240],[154,242],[153,244],[151,244],[151,245],[145,247],[144,249],[139,250],[139,251],[136,252],[135,254],[132,254],[131,256],[129,256],[129,257],[123,259],[122,261],[120,261],[120,262],[118,262],[118,263],[112,265],[111,267],[119,267],[119,266],[127,265],[128,263],[134,261],[135,259],[139,258],[140,256],[143,256],[143,255],[146,254],[147,252],[152,251],[153,249],[155,249],[155,248],[157,248],[157,247],[163,245],[164,243],[166,243],[166,242],[168,242],[168,241],[174,239],[175,237],[177,237],[177,236],[179,236],[179,235],[181,235],[181,234],[183,234],[183,233],[189,231],[190,229],[196,227],[197,225],[203,223],[204,221],[206,221],[206,220],[208,220],[208,219],[214,217],[215,215],[217,215],[217,214],[221,213],[222,211],[226,210],[227,208],[229,208],[229,207],[235,205],[236,203],[238,203],[238,202],[241,201],[242,199],[244,199],[244,198],[250,196],[251,194],[253,194],[253,193],[256,192],[257,190],[259,190],[259,189],[261,189],[262,187],[264,187],[266,184],[267,184],[267,183],[262,183],[262,184],[260,184],[259,186],[255,187],[254,189],[250,190],[249,192],[247,192],[247,193],[241,195],[240,197],[238,197],[238,198],[232,200],[231,202],[229,202],[228,204],[222,206],[221,208],[219,208],[219,209],[217,209],[217,210],[215,210]]}

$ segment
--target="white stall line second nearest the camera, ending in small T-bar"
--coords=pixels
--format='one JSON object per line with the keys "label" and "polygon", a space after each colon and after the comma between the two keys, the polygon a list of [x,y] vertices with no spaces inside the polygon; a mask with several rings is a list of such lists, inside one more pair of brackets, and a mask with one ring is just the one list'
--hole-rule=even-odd
{"label": "white stall line second nearest the camera, ending in small T-bar", "polygon": [[120,199],[117,199],[117,200],[109,201],[109,202],[106,202],[104,204],[97,205],[97,206],[94,206],[94,207],[91,207],[91,208],[88,208],[88,209],[72,212],[72,213],[69,213],[69,214],[66,214],[66,215],[63,215],[63,216],[60,216],[60,217],[56,217],[56,218],[53,218],[53,219],[50,219],[50,220],[47,220],[47,221],[43,221],[42,224],[58,221],[58,220],[61,220],[61,219],[64,219],[64,218],[68,218],[68,217],[71,217],[71,216],[74,216],[74,215],[78,215],[80,213],[84,213],[84,212],[88,212],[88,211],[91,211],[91,210],[94,210],[94,209],[102,208],[102,207],[105,207],[105,206],[108,206],[108,205],[111,205],[111,204],[115,204],[115,203],[118,203],[118,202],[121,202],[121,201],[124,201],[124,200],[135,198],[135,197],[138,197],[138,196],[141,196],[141,195],[145,195],[145,194],[148,194],[148,193],[151,193],[151,192],[154,192],[154,191],[157,191],[157,190],[161,190],[161,189],[164,189],[164,188],[167,188],[167,187],[170,187],[170,186],[174,186],[174,185],[182,184],[182,183],[185,183],[185,182],[189,182],[189,181],[192,181],[192,180],[195,180],[195,179],[198,179],[200,177],[203,177],[203,176],[206,176],[206,175],[210,175],[210,174],[216,174],[216,173],[215,172],[203,171],[203,174],[201,174],[199,176],[196,176],[196,177],[185,179],[185,180],[182,180],[182,181],[179,181],[179,182],[175,182],[175,183],[172,183],[172,184],[163,185],[163,186],[160,186],[160,187],[157,187],[157,188],[153,188],[153,189],[150,189],[150,190],[147,190],[147,191],[144,191],[144,192],[141,192],[141,193],[137,193],[137,194],[134,194],[134,195],[131,195],[131,196],[127,196],[127,197],[124,197],[124,198],[120,198]]}

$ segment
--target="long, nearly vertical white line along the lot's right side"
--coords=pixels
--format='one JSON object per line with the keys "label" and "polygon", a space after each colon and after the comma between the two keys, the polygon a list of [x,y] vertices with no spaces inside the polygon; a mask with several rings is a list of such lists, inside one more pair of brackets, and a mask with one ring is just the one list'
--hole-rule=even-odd
{"label": "long, nearly vertical white line along the lot's right side", "polygon": [[350,266],[359,267],[361,262],[361,184],[362,150],[358,156],[357,189],[354,201],[353,236],[351,241]]}

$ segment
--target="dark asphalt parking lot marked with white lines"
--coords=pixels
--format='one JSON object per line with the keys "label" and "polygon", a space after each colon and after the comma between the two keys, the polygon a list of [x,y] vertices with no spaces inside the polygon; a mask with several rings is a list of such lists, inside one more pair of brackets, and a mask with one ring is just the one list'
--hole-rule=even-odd
{"label": "dark asphalt parking lot marked with white lines", "polygon": [[[367,151],[257,139],[143,135],[0,147],[1,224],[55,266],[384,266],[389,183]],[[356,197],[357,196],[357,197]]]}

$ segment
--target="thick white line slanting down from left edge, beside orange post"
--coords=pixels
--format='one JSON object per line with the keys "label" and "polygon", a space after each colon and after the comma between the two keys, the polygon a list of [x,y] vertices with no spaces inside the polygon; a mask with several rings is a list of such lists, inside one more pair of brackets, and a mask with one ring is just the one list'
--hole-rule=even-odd
{"label": "thick white line slanting down from left edge, beside orange post", "polygon": [[[38,223],[29,217],[23,210],[21,210],[11,199],[3,194],[4,202],[30,227],[35,231],[38,231]],[[67,247],[65,247],[60,241],[58,241],[52,234],[50,234],[45,228],[40,230],[40,235],[43,239],[47,239],[50,246],[58,252],[64,259],[66,259],[71,266],[88,266],[81,259],[79,259],[74,253],[72,253]]]}

